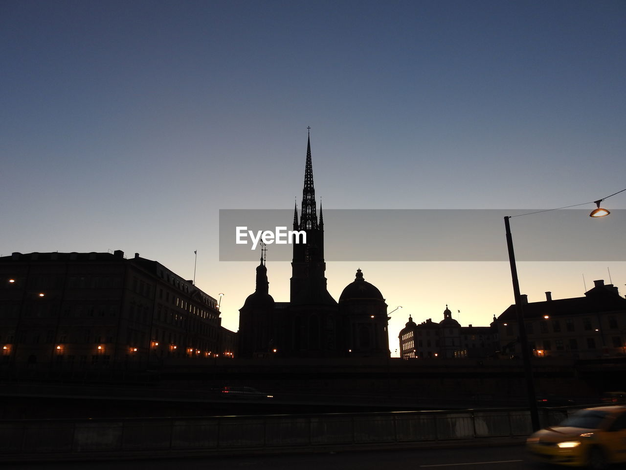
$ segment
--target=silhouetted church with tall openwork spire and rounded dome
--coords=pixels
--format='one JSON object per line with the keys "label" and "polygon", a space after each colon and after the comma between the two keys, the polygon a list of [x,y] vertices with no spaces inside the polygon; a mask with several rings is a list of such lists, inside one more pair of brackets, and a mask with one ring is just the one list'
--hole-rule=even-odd
{"label": "silhouetted church with tall openwork spire and rounded dome", "polygon": [[300,220],[306,243],[294,243],[290,301],[269,294],[264,256],[257,266],[257,286],[239,310],[239,357],[389,357],[387,305],[381,291],[363,279],[347,285],[339,303],[326,287],[324,216],[319,219],[313,185],[310,135]]}

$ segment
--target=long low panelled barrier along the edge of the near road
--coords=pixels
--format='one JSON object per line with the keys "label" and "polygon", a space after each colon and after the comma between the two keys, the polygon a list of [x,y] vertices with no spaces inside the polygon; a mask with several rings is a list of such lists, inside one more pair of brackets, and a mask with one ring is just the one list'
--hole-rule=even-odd
{"label": "long low panelled barrier along the edge of the near road", "polygon": [[[543,424],[567,409],[543,409]],[[525,409],[265,415],[193,418],[6,420],[0,453],[101,454],[454,441],[531,433]]]}

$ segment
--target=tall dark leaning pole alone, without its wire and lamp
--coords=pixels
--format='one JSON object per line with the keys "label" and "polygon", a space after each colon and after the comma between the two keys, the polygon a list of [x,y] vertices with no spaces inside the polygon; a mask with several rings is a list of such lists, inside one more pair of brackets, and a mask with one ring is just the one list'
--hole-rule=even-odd
{"label": "tall dark leaning pole alone, without its wire and lamp", "polygon": [[513,238],[511,237],[511,227],[509,219],[505,217],[506,246],[508,248],[509,263],[511,264],[511,279],[513,280],[513,295],[515,295],[515,311],[517,313],[517,325],[520,333],[521,359],[524,364],[524,375],[526,378],[526,392],[528,394],[528,406],[530,407],[530,420],[533,431],[540,429],[539,412],[535,397],[535,384],[533,383],[533,368],[530,363],[530,350],[528,348],[528,337],[526,337],[526,325],[524,323],[524,308],[521,303],[520,282],[517,278],[517,266],[515,264],[515,253],[513,252]]}

